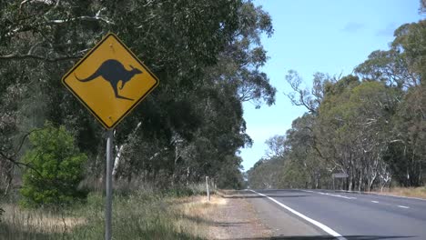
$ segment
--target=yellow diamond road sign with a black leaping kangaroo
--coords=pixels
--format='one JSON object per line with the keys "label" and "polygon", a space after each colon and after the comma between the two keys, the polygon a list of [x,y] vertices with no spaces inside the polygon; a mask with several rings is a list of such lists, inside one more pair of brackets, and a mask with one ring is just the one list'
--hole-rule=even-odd
{"label": "yellow diamond road sign with a black leaping kangaroo", "polygon": [[158,85],[157,77],[114,34],[106,35],[62,82],[107,129]]}

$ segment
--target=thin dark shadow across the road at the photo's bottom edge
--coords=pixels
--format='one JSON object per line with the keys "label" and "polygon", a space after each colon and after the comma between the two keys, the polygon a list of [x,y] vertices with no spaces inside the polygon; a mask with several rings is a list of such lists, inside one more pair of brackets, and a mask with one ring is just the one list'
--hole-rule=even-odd
{"label": "thin dark shadow across the road at the photo's bottom edge", "polygon": [[[381,239],[406,239],[412,235],[344,235],[347,240],[381,240]],[[232,238],[233,240],[337,240],[330,235],[294,235],[294,236],[272,236],[257,238]],[[231,240],[230,238],[228,240]]]}

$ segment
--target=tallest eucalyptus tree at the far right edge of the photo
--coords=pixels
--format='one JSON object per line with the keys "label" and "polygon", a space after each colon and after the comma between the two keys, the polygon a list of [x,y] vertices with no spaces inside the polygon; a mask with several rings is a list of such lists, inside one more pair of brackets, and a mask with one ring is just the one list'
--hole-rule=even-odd
{"label": "tallest eucalyptus tree at the far right edge of the photo", "polygon": [[364,79],[379,80],[393,88],[391,141],[386,161],[401,185],[424,183],[425,156],[423,79],[426,66],[426,22],[401,25],[389,51],[375,51],[355,70]]}

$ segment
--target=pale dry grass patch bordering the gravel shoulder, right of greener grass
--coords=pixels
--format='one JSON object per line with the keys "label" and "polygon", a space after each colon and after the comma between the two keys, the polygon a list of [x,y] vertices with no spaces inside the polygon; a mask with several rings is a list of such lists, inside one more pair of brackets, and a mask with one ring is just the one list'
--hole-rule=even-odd
{"label": "pale dry grass patch bordering the gravel shoulder, right of greener grass", "polygon": [[220,205],[226,205],[227,199],[211,195],[208,202],[206,196],[191,196],[173,200],[174,208],[180,217],[175,222],[177,229],[200,238],[208,238],[211,225],[215,225],[211,215]]}

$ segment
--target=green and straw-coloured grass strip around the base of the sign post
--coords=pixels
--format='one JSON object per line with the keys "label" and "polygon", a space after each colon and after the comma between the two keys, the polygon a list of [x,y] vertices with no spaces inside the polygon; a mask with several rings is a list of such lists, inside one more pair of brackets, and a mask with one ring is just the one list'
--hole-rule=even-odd
{"label": "green and straw-coloured grass strip around the base of the sign post", "polygon": [[[197,187],[115,195],[113,239],[202,239],[188,234],[190,224],[176,225],[182,215],[171,206],[178,197],[193,194],[198,194]],[[0,239],[104,239],[104,206],[99,193],[89,194],[85,204],[61,213],[3,204]]]}

